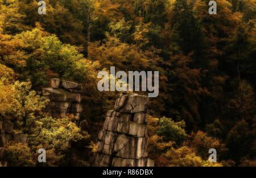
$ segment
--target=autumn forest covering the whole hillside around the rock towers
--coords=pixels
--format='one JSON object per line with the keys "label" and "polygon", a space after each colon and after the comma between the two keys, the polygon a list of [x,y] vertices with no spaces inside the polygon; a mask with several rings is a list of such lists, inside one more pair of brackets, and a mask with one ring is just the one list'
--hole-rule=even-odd
{"label": "autumn forest covering the whole hillside around the rock towers", "polygon": [[[155,166],[256,166],[255,0],[217,0],[216,15],[209,0],[45,2],[39,15],[38,1],[0,0],[0,122],[28,137],[3,146],[2,161],[90,165],[119,96],[98,91],[97,73],[114,66],[159,71],[159,96],[150,98],[147,115]],[[49,78],[82,84],[87,130],[73,115],[44,112]],[[37,161],[39,148],[46,163]],[[210,148],[217,163],[208,161]]]}

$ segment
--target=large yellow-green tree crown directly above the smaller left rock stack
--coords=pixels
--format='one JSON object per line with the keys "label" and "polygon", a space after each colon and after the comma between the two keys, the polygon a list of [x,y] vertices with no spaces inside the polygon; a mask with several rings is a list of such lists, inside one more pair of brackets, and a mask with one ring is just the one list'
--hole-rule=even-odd
{"label": "large yellow-green tree crown directly above the smaller left rock stack", "polygon": [[17,68],[23,80],[30,79],[34,88],[48,85],[48,78],[60,77],[81,82],[94,71],[96,63],[86,60],[79,48],[63,44],[55,35],[42,29],[22,32],[15,38],[22,40],[23,51],[27,53],[26,67]]}

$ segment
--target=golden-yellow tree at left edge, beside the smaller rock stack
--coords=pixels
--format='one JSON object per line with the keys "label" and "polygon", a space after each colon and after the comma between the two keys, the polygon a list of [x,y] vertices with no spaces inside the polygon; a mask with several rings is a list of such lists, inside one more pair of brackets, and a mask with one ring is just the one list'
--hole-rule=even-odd
{"label": "golden-yellow tree at left edge, beside the smaller rock stack", "polygon": [[23,133],[35,134],[46,98],[31,90],[31,82],[14,81],[14,71],[2,64],[0,67],[5,69],[0,76],[0,114],[10,118]]}

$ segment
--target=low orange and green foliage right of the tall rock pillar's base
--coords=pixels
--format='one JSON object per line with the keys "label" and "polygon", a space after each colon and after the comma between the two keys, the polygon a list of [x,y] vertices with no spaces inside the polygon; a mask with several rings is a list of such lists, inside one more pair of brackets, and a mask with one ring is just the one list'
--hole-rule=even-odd
{"label": "low orange and green foliage right of the tall rock pillar's base", "polygon": [[[169,118],[158,118],[148,115],[148,153],[155,160],[156,166],[222,166],[220,163],[210,163],[209,148],[217,148],[218,154],[224,150],[219,140],[210,138],[199,131],[192,140],[175,144],[175,140],[187,139],[184,127],[185,122],[174,122]],[[161,134],[159,136],[158,134]],[[167,140],[169,136],[169,140]],[[177,141],[176,141],[177,142]],[[208,149],[208,150],[207,150]]]}

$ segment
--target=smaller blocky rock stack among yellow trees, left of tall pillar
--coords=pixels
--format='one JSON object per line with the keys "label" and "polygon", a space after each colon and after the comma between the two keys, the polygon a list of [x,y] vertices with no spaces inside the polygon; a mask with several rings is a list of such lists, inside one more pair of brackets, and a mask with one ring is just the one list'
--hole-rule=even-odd
{"label": "smaller blocky rock stack among yellow trees, left of tall pillar", "polygon": [[43,95],[49,99],[46,111],[52,117],[73,114],[77,120],[81,117],[82,85],[76,82],[63,81],[59,78],[50,80],[51,88],[43,88]]}

